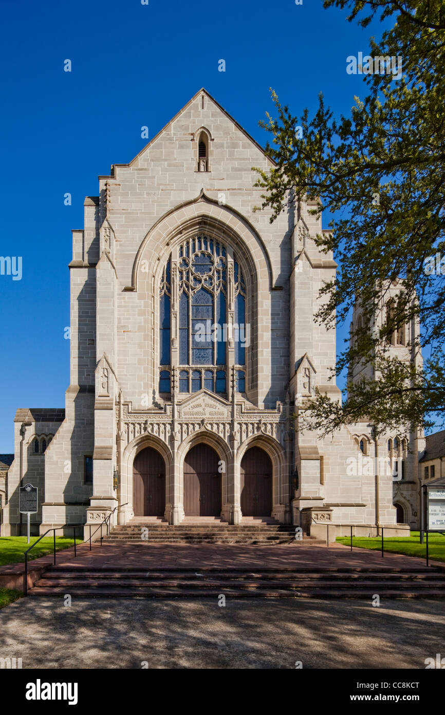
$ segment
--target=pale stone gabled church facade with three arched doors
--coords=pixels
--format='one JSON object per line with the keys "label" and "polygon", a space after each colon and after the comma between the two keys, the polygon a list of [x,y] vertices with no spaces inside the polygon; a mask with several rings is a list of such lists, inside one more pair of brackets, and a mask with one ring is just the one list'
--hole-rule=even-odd
{"label": "pale stone gabled church facade with three arched doors", "polygon": [[[251,167],[272,166],[202,89],[99,177],[73,231],[65,409],[17,410],[2,536],[21,533],[28,481],[40,533],[111,512],[113,523],[329,523],[337,535],[416,526],[418,435],[375,440],[368,423],[323,439],[299,430],[316,387],[341,397],[329,381],[335,330],[314,321],[336,263],[316,247],[310,204],[272,224],[254,212]],[[390,440],[403,480],[362,467]]]}

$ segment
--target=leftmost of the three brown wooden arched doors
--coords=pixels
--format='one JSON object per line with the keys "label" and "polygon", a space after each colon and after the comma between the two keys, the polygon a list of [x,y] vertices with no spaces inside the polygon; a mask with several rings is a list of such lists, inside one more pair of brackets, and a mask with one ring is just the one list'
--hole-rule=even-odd
{"label": "leftmost of the three brown wooden arched doors", "polygon": [[164,516],[165,462],[152,447],[134,458],[133,511],[134,516]]}

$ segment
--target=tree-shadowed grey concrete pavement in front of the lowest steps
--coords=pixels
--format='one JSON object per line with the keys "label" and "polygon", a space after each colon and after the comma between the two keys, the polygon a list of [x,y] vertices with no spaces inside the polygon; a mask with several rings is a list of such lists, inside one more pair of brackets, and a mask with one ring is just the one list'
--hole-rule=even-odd
{"label": "tree-shadowed grey concrete pavement in front of the lowest steps", "polygon": [[24,669],[424,669],[444,653],[443,601],[21,598],[0,657]]}

